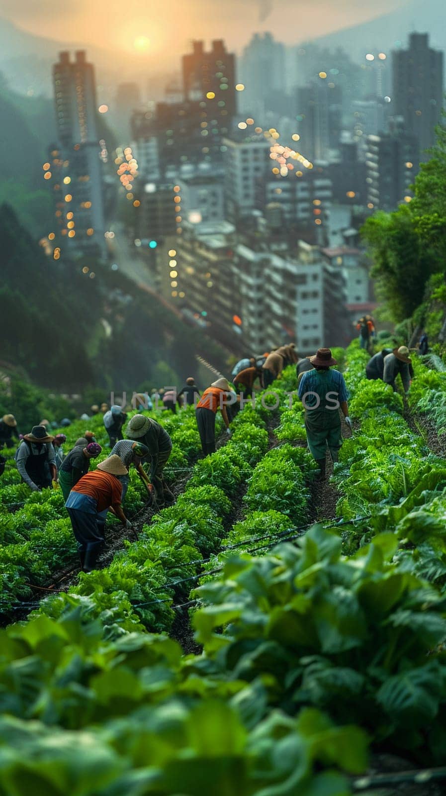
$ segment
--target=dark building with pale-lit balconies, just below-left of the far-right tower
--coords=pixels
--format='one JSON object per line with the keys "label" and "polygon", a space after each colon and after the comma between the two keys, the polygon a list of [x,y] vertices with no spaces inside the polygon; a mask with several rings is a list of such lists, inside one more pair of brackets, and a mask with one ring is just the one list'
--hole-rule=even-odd
{"label": "dark building with pale-lit balconies, just below-left of the far-right tower", "polygon": [[[396,124],[390,133],[367,136],[367,207],[394,210],[409,201],[409,185],[417,174],[418,141]],[[408,197],[405,199],[405,197]]]}

